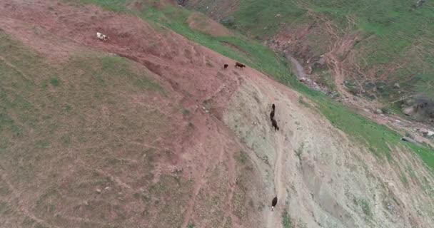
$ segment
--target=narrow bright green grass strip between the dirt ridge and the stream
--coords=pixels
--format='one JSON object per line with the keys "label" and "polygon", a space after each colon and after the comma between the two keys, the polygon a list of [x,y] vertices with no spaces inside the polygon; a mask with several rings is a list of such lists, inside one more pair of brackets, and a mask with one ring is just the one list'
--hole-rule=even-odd
{"label": "narrow bright green grass strip between the dirt ridge and the stream", "polygon": [[[296,77],[291,75],[288,65],[280,56],[276,56],[273,51],[256,41],[252,41],[241,35],[213,37],[194,31],[186,22],[191,12],[183,8],[174,6],[157,8],[149,4],[149,7],[140,11],[138,9],[128,9],[128,7],[126,7],[128,5],[127,0],[113,0],[110,3],[109,1],[100,0],[81,1],[98,4],[114,11],[136,14],[147,21],[156,23],[156,26],[163,25],[171,28],[173,31],[186,36],[186,38],[211,48],[218,53],[248,63],[248,65],[253,68],[257,68],[259,71],[273,76],[276,80],[281,81],[281,83],[298,90],[311,100],[316,101],[318,109],[333,125],[340,128],[340,130],[343,130],[345,133],[348,133],[350,137],[358,140],[358,142],[367,145],[369,150],[379,157],[393,159],[393,155],[390,155],[390,145],[409,147],[414,152],[418,153],[428,166],[434,169],[434,154],[430,149],[403,143],[400,141],[400,135],[392,130],[361,117],[354,113],[353,110],[345,108],[340,103],[336,103],[322,93],[307,88],[302,83],[299,83]],[[231,43],[232,46],[236,46],[237,48],[226,46],[223,41]]]}

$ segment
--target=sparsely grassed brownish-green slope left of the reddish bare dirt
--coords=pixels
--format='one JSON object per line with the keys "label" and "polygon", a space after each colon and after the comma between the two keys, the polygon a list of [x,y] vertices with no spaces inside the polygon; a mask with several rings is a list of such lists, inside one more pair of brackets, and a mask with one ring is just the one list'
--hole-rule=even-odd
{"label": "sparsely grassed brownish-green slope left of the reddish bare dirt", "polygon": [[170,95],[148,71],[91,52],[53,63],[1,30],[0,53],[1,227],[132,227],[153,212],[182,222],[191,182],[152,182],[162,152],[134,143],[173,133],[167,115],[131,102]]}

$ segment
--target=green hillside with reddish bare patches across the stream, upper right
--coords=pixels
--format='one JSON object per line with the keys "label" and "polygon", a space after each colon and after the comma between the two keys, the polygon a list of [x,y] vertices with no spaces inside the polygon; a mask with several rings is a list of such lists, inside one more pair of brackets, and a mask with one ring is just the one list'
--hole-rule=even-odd
{"label": "green hillside with reddish bare patches across the stream, upper right", "polygon": [[[203,4],[218,8],[212,1],[192,2],[193,8]],[[237,3],[231,27],[259,40],[272,38],[286,28],[296,32],[316,23],[304,41],[312,56],[329,51],[330,44],[336,42],[335,35],[345,38],[358,34],[360,42],[353,47],[355,58],[345,60],[346,54],[340,58],[347,69],[348,84],[366,90],[368,98],[398,100],[403,95],[414,94],[434,98],[434,81],[430,77],[434,73],[431,55],[434,25],[430,22],[434,4],[431,1],[418,9],[412,8],[416,0],[240,0]],[[218,11],[213,12],[216,14]],[[333,26],[326,26],[326,21]],[[395,83],[400,83],[400,88],[393,88]]]}

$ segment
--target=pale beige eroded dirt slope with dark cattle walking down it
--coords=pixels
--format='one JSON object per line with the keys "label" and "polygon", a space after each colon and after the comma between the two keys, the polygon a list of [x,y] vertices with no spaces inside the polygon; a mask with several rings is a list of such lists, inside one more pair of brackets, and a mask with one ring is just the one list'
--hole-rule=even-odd
{"label": "pale beige eroded dirt slope with dark cattle walking down it", "polygon": [[[398,149],[393,152],[397,165],[377,160],[321,118],[313,104],[300,102],[297,93],[268,78],[246,78],[250,80],[233,96],[224,120],[254,156],[268,158],[258,162],[266,167],[262,172],[268,195],[279,198],[276,212],[264,212],[268,227],[280,224],[276,220],[284,209],[301,227],[430,226],[433,199],[416,179],[426,177],[432,183],[432,175],[420,160]],[[278,133],[268,123],[271,103],[276,104]],[[403,184],[399,167],[418,172],[418,177]]]}

